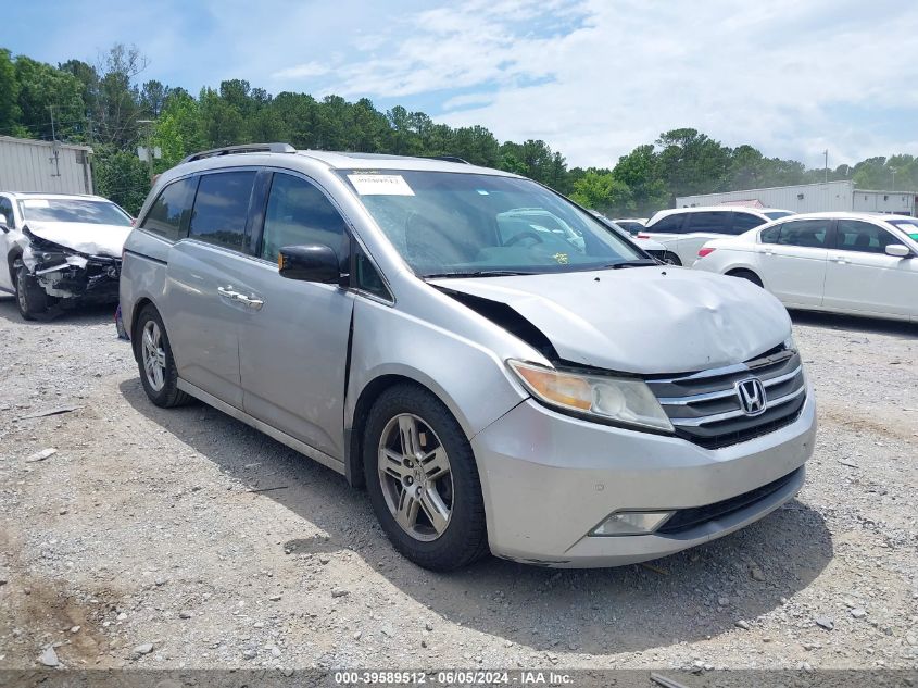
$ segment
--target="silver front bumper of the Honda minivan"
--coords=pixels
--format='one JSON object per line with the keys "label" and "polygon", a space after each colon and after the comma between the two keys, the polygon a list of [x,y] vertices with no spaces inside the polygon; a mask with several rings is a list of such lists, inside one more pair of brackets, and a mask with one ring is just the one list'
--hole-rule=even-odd
{"label": "silver front bumper of the Honda minivan", "polygon": [[[797,493],[813,453],[813,389],[797,418],[768,435],[708,450],[687,440],[573,418],[528,400],[476,435],[491,551],[546,566],[617,566],[710,541]],[[791,475],[793,474],[793,475]],[[619,510],[706,506],[789,476],[766,496],[666,535],[588,534]],[[665,524],[664,524],[665,528]]]}

